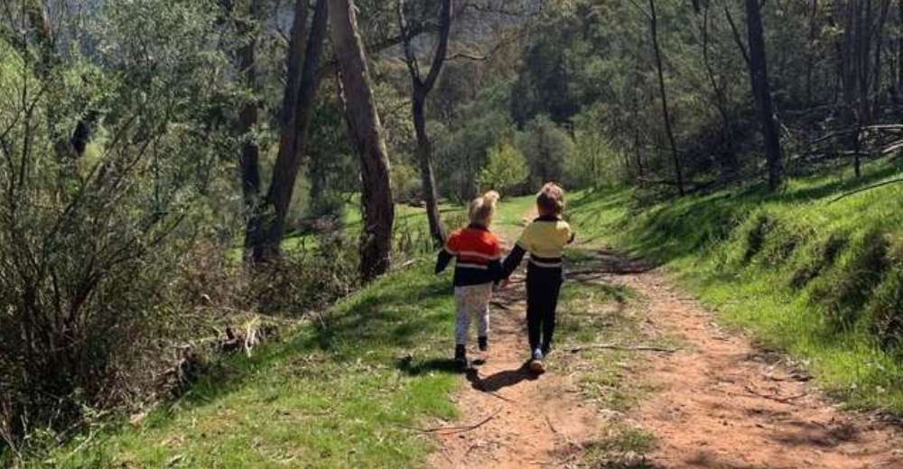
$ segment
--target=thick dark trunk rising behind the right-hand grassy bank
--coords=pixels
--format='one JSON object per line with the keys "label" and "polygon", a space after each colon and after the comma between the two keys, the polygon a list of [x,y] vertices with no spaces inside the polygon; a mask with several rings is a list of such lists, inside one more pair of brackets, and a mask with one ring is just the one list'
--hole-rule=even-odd
{"label": "thick dark trunk rising behind the right-hand grassy bank", "polygon": [[771,91],[768,87],[768,59],[765,52],[759,0],[746,0],[746,21],[749,30],[749,81],[752,85],[752,97],[756,101],[756,110],[762,126],[762,136],[765,139],[768,187],[775,190],[781,185],[783,171],[781,142],[774,106],[771,102]]}

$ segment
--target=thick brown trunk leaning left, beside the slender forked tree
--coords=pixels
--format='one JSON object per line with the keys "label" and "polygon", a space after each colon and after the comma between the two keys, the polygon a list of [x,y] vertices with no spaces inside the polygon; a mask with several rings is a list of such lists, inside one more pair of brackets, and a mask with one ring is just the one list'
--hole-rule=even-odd
{"label": "thick brown trunk leaning left, beside the slender forked tree", "polygon": [[364,280],[373,280],[388,271],[392,252],[395,207],[389,183],[389,158],[373,100],[367,56],[358,33],[354,0],[329,0],[329,5],[345,117],[349,137],[360,157],[364,186],[360,273]]}

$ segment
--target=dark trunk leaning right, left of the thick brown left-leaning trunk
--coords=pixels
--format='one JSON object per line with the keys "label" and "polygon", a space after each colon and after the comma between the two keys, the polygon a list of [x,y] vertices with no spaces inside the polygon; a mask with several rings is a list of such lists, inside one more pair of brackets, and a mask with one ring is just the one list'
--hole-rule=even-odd
{"label": "dark trunk leaning right, left of the thick brown left-leaning trunk", "polygon": [[329,16],[326,0],[317,0],[308,35],[306,0],[297,0],[288,51],[288,76],[283,97],[279,153],[273,179],[260,216],[261,235],[254,249],[256,261],[279,256],[285,233],[285,221],[292,203],[295,179],[303,161],[307,134],[311,128],[314,98],[320,87],[320,60]]}

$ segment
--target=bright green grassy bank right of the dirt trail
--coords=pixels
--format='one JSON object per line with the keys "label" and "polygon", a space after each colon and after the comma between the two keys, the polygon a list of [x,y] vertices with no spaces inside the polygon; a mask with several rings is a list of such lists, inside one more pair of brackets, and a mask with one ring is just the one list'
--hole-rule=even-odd
{"label": "bright green grassy bank right of the dirt trail", "polygon": [[873,166],[861,180],[795,179],[777,195],[722,191],[642,209],[628,209],[627,190],[583,193],[570,217],[584,243],[663,263],[725,322],[788,351],[853,406],[900,413],[903,354],[890,318],[903,320],[903,185],[831,202],[899,171]]}

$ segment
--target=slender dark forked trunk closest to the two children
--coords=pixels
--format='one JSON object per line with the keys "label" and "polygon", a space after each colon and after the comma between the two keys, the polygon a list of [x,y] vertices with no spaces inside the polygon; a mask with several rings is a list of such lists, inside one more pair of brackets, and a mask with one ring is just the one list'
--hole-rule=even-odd
{"label": "slender dark forked trunk closest to the two children", "polygon": [[449,33],[452,31],[452,0],[442,0],[442,9],[439,18],[439,43],[433,53],[433,63],[430,71],[424,78],[420,73],[420,65],[414,54],[411,40],[413,39],[407,20],[405,19],[405,1],[398,2],[398,23],[401,29],[402,45],[405,50],[405,63],[411,76],[411,110],[414,117],[414,131],[417,134],[417,160],[420,162],[420,177],[424,190],[424,202],[426,203],[426,216],[430,224],[430,234],[436,245],[445,244],[445,234],[442,231],[442,220],[439,217],[439,200],[436,195],[436,182],[433,175],[433,146],[430,137],[426,133],[426,116],[424,106],[426,97],[435,87],[442,65],[445,63],[445,55],[448,52]]}

